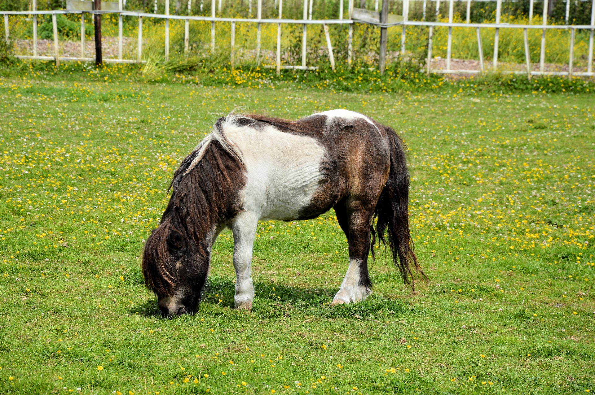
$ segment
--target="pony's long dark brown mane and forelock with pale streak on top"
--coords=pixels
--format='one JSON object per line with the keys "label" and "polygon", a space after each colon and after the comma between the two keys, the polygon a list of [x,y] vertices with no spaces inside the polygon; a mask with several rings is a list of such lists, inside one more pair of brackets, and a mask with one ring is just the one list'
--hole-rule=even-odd
{"label": "pony's long dark brown mane and forelock with pale streak on top", "polygon": [[[216,138],[203,144],[208,147],[197,147],[174,173],[170,202],[161,224],[145,244],[142,261],[145,285],[158,295],[170,296],[177,280],[173,270],[176,263],[171,261],[167,246],[170,232],[193,241],[206,256],[211,241],[205,235],[241,209],[237,191],[245,183],[242,162]],[[199,153],[202,157],[194,163]]]}

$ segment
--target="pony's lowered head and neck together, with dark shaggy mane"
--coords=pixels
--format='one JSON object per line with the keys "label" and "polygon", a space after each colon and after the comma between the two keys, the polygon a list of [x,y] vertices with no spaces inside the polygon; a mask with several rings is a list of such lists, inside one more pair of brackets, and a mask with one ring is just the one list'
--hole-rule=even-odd
{"label": "pony's lowered head and neck together, with dark shaggy mane", "polygon": [[217,229],[242,210],[245,168],[223,134],[226,122],[220,118],[174,173],[170,202],[145,244],[145,284],[164,317],[198,311]]}

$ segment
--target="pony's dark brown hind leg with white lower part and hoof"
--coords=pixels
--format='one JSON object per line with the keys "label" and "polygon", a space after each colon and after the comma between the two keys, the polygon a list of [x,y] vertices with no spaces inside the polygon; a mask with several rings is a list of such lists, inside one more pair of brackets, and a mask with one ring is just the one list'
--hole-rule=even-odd
{"label": "pony's dark brown hind leg with white lower part and hoof", "polygon": [[[347,223],[348,226],[345,234],[349,242],[349,268],[331,306],[363,301],[372,293],[372,283],[368,276],[372,211],[365,208],[349,210],[349,207],[346,210],[345,207],[336,207],[335,211],[337,219],[345,216],[340,223]],[[345,227],[343,230],[345,231]]]}

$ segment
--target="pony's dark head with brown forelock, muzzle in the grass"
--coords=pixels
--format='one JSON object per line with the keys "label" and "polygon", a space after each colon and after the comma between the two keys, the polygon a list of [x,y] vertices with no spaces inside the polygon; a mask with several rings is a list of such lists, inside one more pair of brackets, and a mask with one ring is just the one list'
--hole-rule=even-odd
{"label": "pony's dark head with brown forelock, muzzle in the grass", "polygon": [[209,270],[209,256],[183,227],[165,219],[145,244],[143,274],[163,317],[194,314]]}

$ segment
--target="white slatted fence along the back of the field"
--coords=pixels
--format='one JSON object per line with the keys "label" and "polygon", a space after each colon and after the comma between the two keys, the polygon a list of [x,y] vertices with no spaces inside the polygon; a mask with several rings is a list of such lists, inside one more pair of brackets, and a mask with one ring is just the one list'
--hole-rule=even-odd
{"label": "white slatted fence along the back of the field", "polygon": [[[375,26],[380,26],[381,30],[381,45],[380,45],[380,64],[379,68],[381,73],[384,72],[384,60],[386,59],[386,29],[392,26],[402,26],[402,34],[401,34],[401,48],[400,53],[405,54],[405,40],[406,40],[406,27],[407,26],[427,26],[428,27],[428,59],[427,59],[427,72],[430,74],[431,72],[436,73],[444,73],[444,74],[478,74],[486,71],[486,65],[484,64],[484,54],[483,54],[483,47],[481,45],[481,29],[494,29],[494,54],[491,69],[496,70],[498,67],[498,45],[499,45],[499,35],[500,29],[523,29],[524,30],[524,49],[525,49],[525,65],[526,68],[524,71],[502,71],[502,72],[510,72],[515,74],[527,74],[528,78],[531,78],[531,75],[568,75],[568,77],[575,76],[595,76],[595,72],[593,72],[593,34],[595,31],[595,0],[590,0],[592,3],[591,6],[591,23],[589,25],[550,25],[548,23],[548,4],[549,1],[544,2],[543,7],[543,23],[541,25],[534,25],[534,24],[507,24],[507,23],[500,23],[501,11],[502,11],[502,0],[496,0],[496,21],[495,23],[470,23],[469,21],[469,10],[471,7],[471,0],[466,1],[466,23],[454,23],[453,22],[453,7],[454,7],[454,0],[449,0],[449,14],[448,14],[448,22],[437,22],[437,21],[425,21],[425,6],[426,0],[418,0],[424,1],[424,20],[422,21],[413,21],[409,20],[409,2],[414,0],[403,0],[403,15],[402,20],[394,23],[379,23],[373,21],[363,21],[363,20],[356,20],[353,19],[353,0],[347,0],[348,4],[348,15],[347,19],[343,19],[343,0],[340,1],[340,9],[339,9],[339,19],[331,19],[331,20],[312,20],[312,0],[309,1],[308,7],[308,0],[303,0],[303,19],[301,20],[294,20],[294,19],[284,19],[283,18],[283,0],[278,0],[278,18],[276,19],[266,19],[262,18],[262,0],[258,0],[258,7],[257,7],[257,17],[256,18],[221,18],[215,16],[215,0],[211,0],[211,17],[205,16],[192,16],[192,15],[170,15],[169,11],[169,0],[166,0],[166,14],[149,14],[145,12],[132,12],[132,11],[124,11],[122,7],[122,0],[119,0],[119,8],[120,11],[64,11],[64,10],[57,10],[57,11],[36,11],[35,10],[35,0],[33,1],[33,10],[32,11],[0,11],[0,14],[4,14],[4,26],[5,26],[5,39],[10,40],[10,31],[9,31],[9,24],[8,24],[8,17],[9,15],[32,15],[33,19],[33,54],[32,55],[20,55],[17,58],[22,59],[40,59],[40,60],[55,60],[56,63],[59,65],[60,61],[94,61],[95,58],[89,58],[85,56],[84,53],[84,14],[94,14],[96,18],[98,15],[101,14],[108,14],[108,13],[116,13],[118,14],[118,58],[117,59],[104,59],[104,62],[114,62],[114,63],[141,63],[142,60],[142,26],[143,26],[143,18],[160,18],[165,20],[165,60],[169,59],[169,50],[170,50],[170,31],[169,31],[169,21],[170,20],[184,20],[185,21],[185,29],[184,29],[184,53],[188,53],[189,48],[189,23],[190,21],[211,21],[211,52],[214,52],[215,49],[215,24],[218,22],[227,22],[231,23],[231,42],[230,42],[230,61],[233,67],[234,58],[235,58],[235,27],[237,23],[256,23],[257,26],[257,34],[256,34],[256,61],[260,62],[260,52],[261,52],[261,26],[263,23],[275,23],[277,24],[277,52],[276,52],[276,59],[275,59],[275,67],[277,69],[277,73],[280,72],[280,69],[317,69],[317,67],[311,67],[307,65],[306,59],[306,39],[308,34],[308,25],[311,24],[322,24],[325,38],[327,42],[327,49],[328,49],[328,57],[330,59],[331,67],[335,68],[335,61],[334,61],[334,54],[333,54],[333,46],[331,45],[331,37],[328,30],[329,24],[347,24],[349,26],[348,30],[348,37],[347,37],[347,64],[351,64],[352,57],[353,57],[353,50],[352,50],[352,40],[353,40],[353,24],[354,23],[367,23],[373,24]],[[388,1],[388,0],[385,0]],[[477,1],[477,0],[474,0]],[[485,1],[485,0],[479,0]],[[587,0],[588,1],[588,0]],[[377,0],[378,3],[378,0]],[[189,2],[190,4],[190,2]],[[530,2],[530,21],[533,17],[533,5],[534,0]],[[376,9],[378,8],[378,4],[376,5]],[[383,10],[380,12],[379,17],[380,21],[387,21],[388,15],[388,7],[383,4]],[[436,15],[439,14],[440,8],[440,1],[436,1]],[[221,9],[221,4],[220,4]],[[569,0],[566,0],[566,20],[568,21],[568,10],[569,10]],[[37,15],[52,15],[52,24],[54,29],[54,56],[39,56],[37,53]],[[57,21],[56,15],[57,14],[80,14],[81,15],[81,53],[80,57],[62,57],[60,56],[60,43],[58,41],[58,30],[57,30]],[[130,17],[137,17],[139,20],[138,23],[138,40],[137,40],[137,56],[136,59],[123,59],[123,34],[122,34],[122,17],[123,16],[130,16]],[[281,65],[281,33],[282,29],[281,26],[283,24],[297,24],[302,25],[302,62],[300,65]],[[432,39],[433,39],[433,32],[434,28],[436,27],[447,27],[448,28],[448,44],[447,44],[447,58],[446,58],[446,69],[433,69],[432,68]],[[480,70],[463,70],[463,69],[452,69],[451,66],[451,55],[452,55],[452,29],[454,27],[466,27],[466,28],[475,28],[477,30],[477,40],[478,40],[478,58],[480,60]],[[541,30],[541,48],[540,48],[540,63],[538,70],[531,69],[531,61],[530,61],[530,51],[528,45],[528,29],[538,29]],[[569,39],[569,59],[568,59],[568,71],[547,71],[544,67],[545,63],[545,54],[546,54],[546,31],[549,29],[564,29],[569,30],[571,32],[570,39]],[[577,29],[585,29],[590,31],[589,42],[588,42],[588,60],[587,60],[587,71],[575,72],[573,71],[573,62],[574,62],[574,37],[575,31]],[[384,43],[383,43],[384,40]],[[101,40],[100,40],[101,42]],[[384,44],[384,45],[383,45]],[[265,66],[267,67],[267,66]]]}

